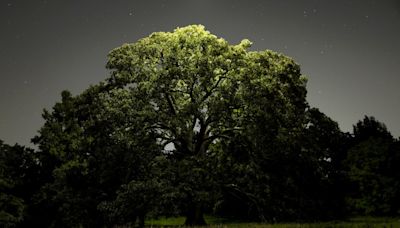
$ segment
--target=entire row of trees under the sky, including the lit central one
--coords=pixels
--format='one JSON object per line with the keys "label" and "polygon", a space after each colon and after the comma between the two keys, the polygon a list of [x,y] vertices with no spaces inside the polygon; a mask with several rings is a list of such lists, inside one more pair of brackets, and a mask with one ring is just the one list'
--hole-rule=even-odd
{"label": "entire row of trees under the sky, including the lit central one", "polygon": [[306,102],[290,58],[188,26],[112,50],[111,76],[62,92],[32,139],[0,141],[0,226],[143,226],[399,216],[400,141]]}

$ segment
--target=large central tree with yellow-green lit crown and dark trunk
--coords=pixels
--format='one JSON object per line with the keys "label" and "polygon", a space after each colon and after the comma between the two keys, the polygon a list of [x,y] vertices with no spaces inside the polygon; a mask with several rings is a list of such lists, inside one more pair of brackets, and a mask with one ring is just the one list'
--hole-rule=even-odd
{"label": "large central tree with yellow-green lit crown and dark trunk", "polygon": [[134,107],[132,124],[140,121],[175,163],[188,225],[204,223],[218,182],[206,169],[216,167],[206,164],[223,152],[219,144],[236,135],[253,152],[284,147],[302,126],[306,80],[299,66],[272,51],[248,51],[250,45],[229,45],[203,26],[188,26],[109,54],[107,83],[115,89],[105,99],[110,109]]}

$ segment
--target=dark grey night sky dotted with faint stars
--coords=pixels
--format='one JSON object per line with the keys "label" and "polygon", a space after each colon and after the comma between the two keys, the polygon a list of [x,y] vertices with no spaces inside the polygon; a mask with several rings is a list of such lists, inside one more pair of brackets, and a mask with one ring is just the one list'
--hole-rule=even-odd
{"label": "dark grey night sky dotted with faint stars", "polygon": [[372,115],[400,135],[399,0],[0,0],[0,139],[29,145],[62,90],[108,76],[111,49],[189,24],[293,57],[342,130]]}

